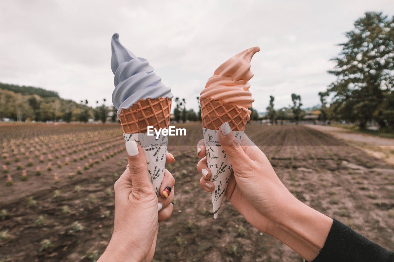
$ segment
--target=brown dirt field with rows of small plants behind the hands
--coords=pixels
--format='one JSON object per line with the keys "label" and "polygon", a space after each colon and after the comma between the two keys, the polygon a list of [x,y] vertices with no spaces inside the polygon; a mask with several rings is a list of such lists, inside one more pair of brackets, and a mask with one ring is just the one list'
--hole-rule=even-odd
{"label": "brown dirt field with rows of small plants behind the hands", "polygon": [[[214,220],[195,169],[201,125],[182,127],[187,136],[170,137],[176,162],[166,166],[176,179],[175,210],[160,227],[154,259],[302,261],[251,227],[226,200]],[[394,247],[392,165],[305,126],[249,124],[246,133],[298,199]],[[0,261],[100,256],[113,230],[113,183],[126,166],[121,134],[118,125],[0,125]]]}

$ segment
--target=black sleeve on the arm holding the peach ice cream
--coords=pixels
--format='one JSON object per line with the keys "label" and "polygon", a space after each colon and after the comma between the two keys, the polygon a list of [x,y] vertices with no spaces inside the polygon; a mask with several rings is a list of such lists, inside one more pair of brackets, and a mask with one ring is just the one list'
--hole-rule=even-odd
{"label": "black sleeve on the arm holding the peach ice cream", "polygon": [[394,253],[335,220],[323,248],[313,262],[394,261]]}

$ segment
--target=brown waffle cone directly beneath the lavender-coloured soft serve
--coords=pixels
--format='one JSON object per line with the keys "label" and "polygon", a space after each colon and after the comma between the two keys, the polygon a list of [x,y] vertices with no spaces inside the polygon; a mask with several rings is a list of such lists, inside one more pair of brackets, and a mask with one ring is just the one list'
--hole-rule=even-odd
{"label": "brown waffle cone directly beneath the lavender-coloured soft serve", "polygon": [[156,129],[168,128],[170,122],[171,99],[140,99],[119,114],[123,133],[146,133],[148,126]]}

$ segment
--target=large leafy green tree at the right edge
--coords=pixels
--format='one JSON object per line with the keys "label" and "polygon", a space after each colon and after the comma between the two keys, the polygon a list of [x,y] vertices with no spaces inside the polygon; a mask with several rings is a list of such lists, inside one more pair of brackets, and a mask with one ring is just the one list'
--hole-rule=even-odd
{"label": "large leafy green tree at the right edge", "polygon": [[367,12],[354,26],[332,59],[336,66],[329,73],[337,79],[324,94],[332,96],[330,109],[336,117],[361,128],[370,120],[384,127],[393,117],[394,17]]}

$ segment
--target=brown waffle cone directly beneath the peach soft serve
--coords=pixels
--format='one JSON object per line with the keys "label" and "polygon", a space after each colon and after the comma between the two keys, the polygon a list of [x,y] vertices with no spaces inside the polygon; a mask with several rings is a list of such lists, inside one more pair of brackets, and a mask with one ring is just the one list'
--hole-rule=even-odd
{"label": "brown waffle cone directly beneath the peach soft serve", "polygon": [[212,98],[200,98],[201,120],[203,127],[219,130],[219,127],[229,122],[232,131],[245,131],[249,114],[233,103],[216,101]]}

